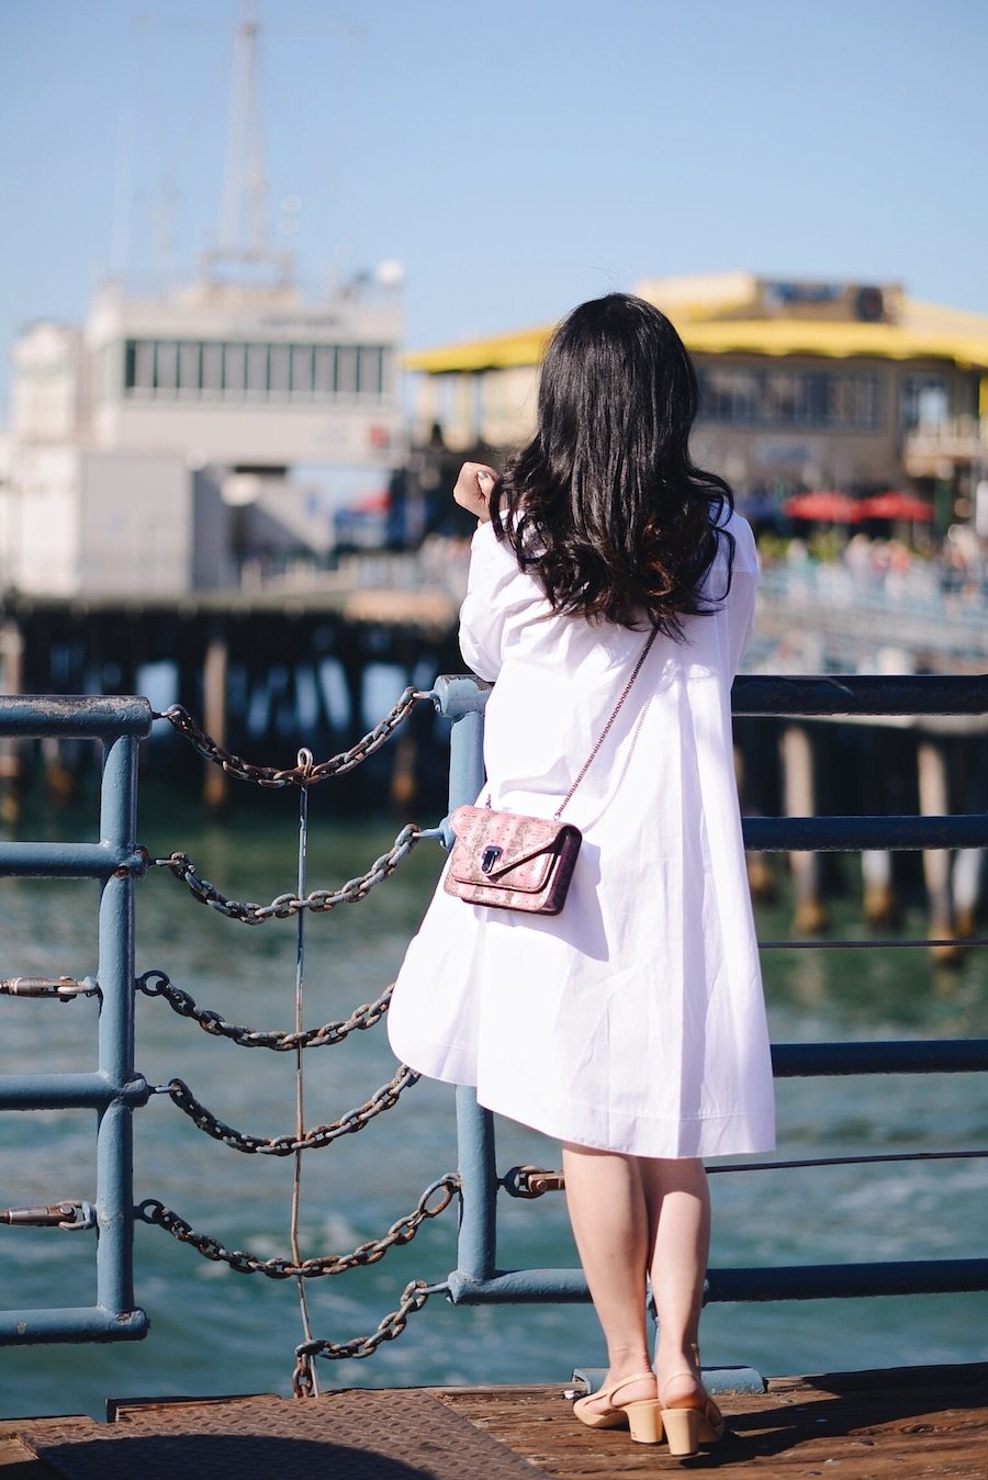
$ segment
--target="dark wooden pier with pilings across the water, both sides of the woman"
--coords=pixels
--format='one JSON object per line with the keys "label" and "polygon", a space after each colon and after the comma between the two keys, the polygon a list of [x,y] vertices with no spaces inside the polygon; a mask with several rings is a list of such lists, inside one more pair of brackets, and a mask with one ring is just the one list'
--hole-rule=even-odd
{"label": "dark wooden pier with pilings across the water, both sides of the woman", "polygon": [[[445,564],[435,564],[433,556],[429,568],[414,555],[353,556],[321,585],[300,589],[271,585],[180,599],[6,593],[0,599],[0,693],[136,694],[148,667],[169,665],[175,702],[222,747],[290,767],[299,746],[317,759],[333,755],[382,718],[385,709],[371,715],[367,703],[374,667],[383,665],[395,673],[389,703],[407,685],[429,687],[438,673],[463,670],[457,611],[464,580],[466,551],[451,546]],[[759,630],[763,639],[791,633],[794,617],[802,614],[809,629],[825,632],[833,613],[830,619],[824,613],[821,604],[794,608],[781,598],[769,599],[762,604]],[[864,617],[852,619],[853,613],[845,613],[843,626],[828,638],[837,644],[834,651],[846,648],[849,657],[859,651],[853,642],[864,641],[868,626]],[[954,647],[939,651],[929,645],[930,672],[951,672],[969,628],[958,628]],[[911,639],[918,641],[916,633]],[[984,633],[981,642],[988,654]],[[988,665],[988,656],[975,657],[982,667]],[[334,679],[328,687],[327,675]],[[365,810],[390,799],[396,810],[413,802],[441,807],[447,789],[444,740],[445,727],[436,724],[429,706],[420,706],[398,743],[351,778],[346,804]],[[942,814],[988,807],[988,716],[908,728],[895,719],[870,721],[856,731],[799,718],[740,721],[735,741],[742,810],[754,814]],[[49,741],[44,773],[55,795],[71,795],[77,764],[71,744]],[[25,770],[19,743],[4,741],[0,817],[6,821],[18,817]],[[177,740],[161,744],[152,737],[143,770],[145,776],[157,771],[192,786],[198,781],[212,811],[229,799],[228,777],[212,765],[203,770],[191,747]],[[750,867],[753,891],[769,897],[775,881],[766,858],[753,855]],[[794,852],[788,867],[796,928],[824,931],[827,861]],[[911,869],[910,860],[893,863],[887,852],[864,855],[862,910],[871,925],[895,924],[902,869]],[[938,947],[944,961],[955,959],[950,941],[976,931],[984,892],[978,858],[954,861],[945,851],[927,851],[921,887],[930,937],[948,943]]]}

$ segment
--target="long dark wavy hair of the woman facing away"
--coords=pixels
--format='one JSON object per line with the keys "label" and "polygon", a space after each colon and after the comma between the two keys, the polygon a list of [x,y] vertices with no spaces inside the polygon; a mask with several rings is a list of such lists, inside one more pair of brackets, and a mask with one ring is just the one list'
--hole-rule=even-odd
{"label": "long dark wavy hair of the woman facing away", "polygon": [[[689,459],[697,373],[657,308],[609,293],[556,329],[541,367],[538,431],[491,500],[498,539],[553,611],[683,636],[731,588],[734,494]],[[703,591],[726,540],[725,591]]]}

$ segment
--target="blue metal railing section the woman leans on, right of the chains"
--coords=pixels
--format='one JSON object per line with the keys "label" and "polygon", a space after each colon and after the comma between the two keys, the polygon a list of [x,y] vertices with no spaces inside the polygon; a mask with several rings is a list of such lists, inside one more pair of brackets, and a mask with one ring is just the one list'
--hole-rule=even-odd
{"label": "blue metal railing section the woman leans on, right of the chains", "polygon": [[[453,721],[450,811],[472,802],[484,784],[482,709],[488,684],[473,678],[436,682],[436,706]],[[978,678],[738,678],[735,716],[831,718],[988,713],[988,675]],[[978,848],[988,845],[988,814],[951,817],[759,817],[744,820],[745,847],[757,851],[862,848]],[[776,1077],[913,1074],[988,1070],[988,1039],[873,1043],[776,1043]],[[494,1117],[472,1089],[457,1091],[457,1138],[463,1212],[456,1304],[488,1301],[586,1301],[581,1270],[498,1270],[498,1175]],[[726,1168],[725,1168],[726,1169]],[[926,1259],[710,1270],[708,1301],[816,1299],[988,1289],[988,1258]]]}

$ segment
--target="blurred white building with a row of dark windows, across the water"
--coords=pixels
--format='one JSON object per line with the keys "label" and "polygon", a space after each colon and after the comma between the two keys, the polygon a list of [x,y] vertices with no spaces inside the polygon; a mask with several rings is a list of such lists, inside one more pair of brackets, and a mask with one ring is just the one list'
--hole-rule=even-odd
{"label": "blurred white building with a row of dark windows, across the water", "polygon": [[284,281],[108,286],[83,332],[34,326],[13,352],[3,585],[182,595],[324,555],[325,488],[293,469],[382,481],[402,460],[399,346],[398,292],[368,286],[319,303]]}

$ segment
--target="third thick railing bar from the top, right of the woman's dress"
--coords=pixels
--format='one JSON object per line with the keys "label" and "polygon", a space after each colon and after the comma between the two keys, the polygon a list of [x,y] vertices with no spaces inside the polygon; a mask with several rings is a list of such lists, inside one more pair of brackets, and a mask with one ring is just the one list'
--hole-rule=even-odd
{"label": "third thick railing bar from the top, right of the woman's dress", "polygon": [[828,1074],[963,1074],[988,1069],[988,1037],[772,1043],[776,1079]]}

